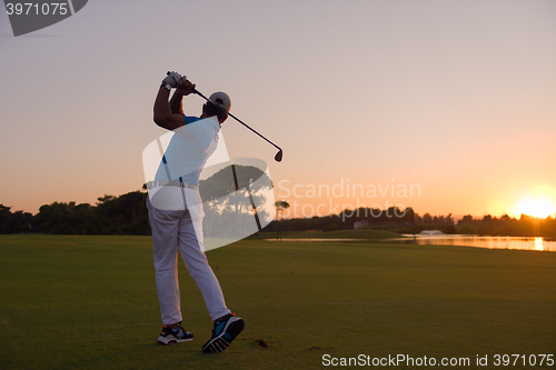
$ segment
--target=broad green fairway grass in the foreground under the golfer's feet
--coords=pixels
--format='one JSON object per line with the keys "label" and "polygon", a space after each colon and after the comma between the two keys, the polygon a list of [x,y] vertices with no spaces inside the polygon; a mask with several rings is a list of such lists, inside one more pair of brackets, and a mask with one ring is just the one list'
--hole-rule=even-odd
{"label": "broad green fairway grass in the foreground under the golfer's feet", "polygon": [[145,237],[1,236],[0,369],[311,369],[325,353],[474,361],[556,350],[553,252],[238,242],[208,252],[246,320],[215,356],[200,351],[211,322],[182,263],[196,339],[156,342],[151,253]]}

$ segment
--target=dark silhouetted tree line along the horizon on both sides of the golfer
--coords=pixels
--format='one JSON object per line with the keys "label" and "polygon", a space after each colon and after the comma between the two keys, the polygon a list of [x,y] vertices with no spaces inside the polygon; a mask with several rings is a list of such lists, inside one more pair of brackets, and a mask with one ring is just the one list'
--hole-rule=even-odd
{"label": "dark silhouetted tree line along the horizon on both sides of the golfer", "polygon": [[[149,236],[150,226],[146,207],[148,193],[142,190],[126,194],[103,196],[96,204],[76,202],[53,202],[40,207],[37,214],[11,211],[0,204],[0,233],[50,233],[50,234],[130,234]],[[277,207],[285,201],[276,202]],[[280,216],[278,209],[278,216]],[[499,218],[490,214],[474,218],[464,216],[457,222],[451,213],[447,216],[423,216],[413,208],[388,210],[361,208],[344,210],[339,214],[312,218],[278,219],[262,231],[307,231],[307,230],[348,230],[358,226],[369,229],[384,229],[399,233],[418,233],[423,230],[440,230],[448,234],[477,234],[500,237],[547,237],[556,239],[556,219],[534,218],[522,214]]]}

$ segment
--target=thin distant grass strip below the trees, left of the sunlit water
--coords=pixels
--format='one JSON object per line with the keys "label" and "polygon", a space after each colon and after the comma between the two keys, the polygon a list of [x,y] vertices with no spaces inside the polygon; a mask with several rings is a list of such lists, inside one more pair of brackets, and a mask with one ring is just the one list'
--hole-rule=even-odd
{"label": "thin distant grass strip below the trees, left of the sunlit water", "polygon": [[393,239],[405,238],[386,230],[337,230],[337,231],[284,231],[259,232],[254,239]]}

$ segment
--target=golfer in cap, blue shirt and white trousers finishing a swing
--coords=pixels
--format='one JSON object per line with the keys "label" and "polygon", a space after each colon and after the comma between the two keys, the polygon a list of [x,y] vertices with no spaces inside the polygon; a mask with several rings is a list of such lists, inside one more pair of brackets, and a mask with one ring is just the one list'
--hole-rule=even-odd
{"label": "golfer in cap, blue shirt and white trousers finishing a swing", "polygon": [[[171,101],[168,101],[172,88],[177,90]],[[169,344],[193,339],[193,334],[181,326],[179,250],[214,321],[212,336],[202,351],[216,353],[226,350],[241,332],[245,322],[226,307],[220,283],[208,264],[198,186],[200,172],[217,148],[220,124],[228,117],[231,102],[226,93],[215,92],[202,106],[199,118],[187,117],[181,109],[181,99],[191,92],[195,92],[195,84],[171,72],[162,80],[155,101],[155,122],[175,132],[155,181],[148,186],[147,197],[157,293],[163,324],[158,341]]]}

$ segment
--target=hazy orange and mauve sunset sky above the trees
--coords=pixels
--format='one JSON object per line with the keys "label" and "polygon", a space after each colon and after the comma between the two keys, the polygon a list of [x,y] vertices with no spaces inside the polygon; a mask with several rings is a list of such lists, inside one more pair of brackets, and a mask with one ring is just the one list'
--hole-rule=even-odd
{"label": "hazy orange and mauve sunset sky above the trees", "polygon": [[[2,11],[0,66],[0,204],[12,211],[140,189],[142,150],[165,133],[155,97],[176,70],[228,92],[231,112],[284,149],[277,163],[238,122],[222,126],[230,157],[267,161],[276,199],[300,204],[291,216],[386,202],[556,212],[554,0],[89,1],[18,38]],[[201,106],[185,100],[189,116]]]}

